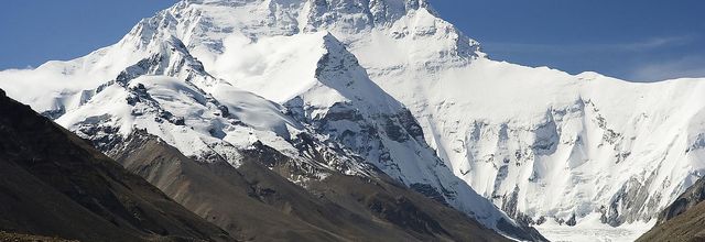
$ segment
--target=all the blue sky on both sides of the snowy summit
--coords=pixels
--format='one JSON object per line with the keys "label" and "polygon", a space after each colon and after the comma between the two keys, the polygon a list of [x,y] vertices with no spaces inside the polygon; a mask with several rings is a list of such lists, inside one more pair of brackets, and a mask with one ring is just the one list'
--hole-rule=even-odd
{"label": "all the blue sky on both sides of the snowy summit", "polygon": [[[431,0],[491,58],[629,80],[705,77],[702,0]],[[112,44],[175,0],[3,0],[0,69]]]}

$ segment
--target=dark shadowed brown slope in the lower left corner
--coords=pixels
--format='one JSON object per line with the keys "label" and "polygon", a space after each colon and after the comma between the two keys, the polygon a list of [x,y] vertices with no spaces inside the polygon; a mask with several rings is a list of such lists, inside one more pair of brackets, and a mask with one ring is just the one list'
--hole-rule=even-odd
{"label": "dark shadowed brown slope in the lower left corner", "polygon": [[231,241],[0,90],[0,230],[82,241]]}

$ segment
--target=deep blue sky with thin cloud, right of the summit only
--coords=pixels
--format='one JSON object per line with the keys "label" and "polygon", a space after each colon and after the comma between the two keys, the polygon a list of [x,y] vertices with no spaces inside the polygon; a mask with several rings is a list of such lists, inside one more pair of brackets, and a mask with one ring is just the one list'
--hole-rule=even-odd
{"label": "deep blue sky with thin cloud, right of the summit only", "polygon": [[702,0],[436,0],[491,58],[629,80],[705,77]]}

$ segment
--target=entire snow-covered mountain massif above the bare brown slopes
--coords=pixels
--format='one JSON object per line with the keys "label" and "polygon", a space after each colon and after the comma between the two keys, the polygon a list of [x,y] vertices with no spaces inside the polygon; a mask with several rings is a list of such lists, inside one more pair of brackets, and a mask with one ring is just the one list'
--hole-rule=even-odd
{"label": "entire snow-covered mountain massif above the bare brown slopes", "polygon": [[236,166],[260,141],[307,178],[371,163],[495,229],[487,199],[521,223],[646,222],[705,172],[704,79],[494,62],[425,0],[185,0],[0,87],[108,150],[147,129]]}

